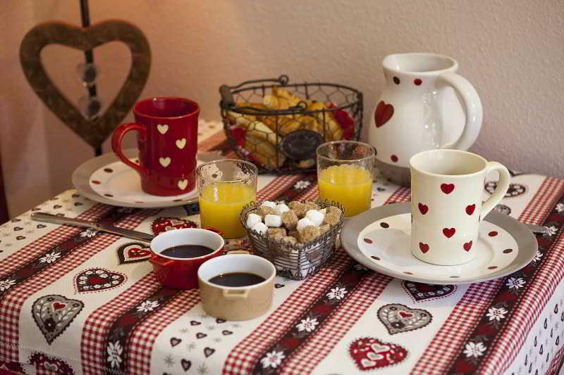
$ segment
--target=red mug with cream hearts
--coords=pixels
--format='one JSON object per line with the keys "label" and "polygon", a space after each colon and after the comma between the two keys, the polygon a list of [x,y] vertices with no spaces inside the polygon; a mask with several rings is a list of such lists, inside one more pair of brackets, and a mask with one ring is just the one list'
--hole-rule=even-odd
{"label": "red mug with cream hearts", "polygon": [[[135,122],[116,127],[111,148],[139,173],[141,188],[154,196],[188,193],[196,184],[196,152],[200,106],[186,98],[158,97],[135,103]],[[125,133],[137,132],[139,164],[123,155]]]}

